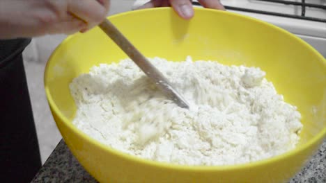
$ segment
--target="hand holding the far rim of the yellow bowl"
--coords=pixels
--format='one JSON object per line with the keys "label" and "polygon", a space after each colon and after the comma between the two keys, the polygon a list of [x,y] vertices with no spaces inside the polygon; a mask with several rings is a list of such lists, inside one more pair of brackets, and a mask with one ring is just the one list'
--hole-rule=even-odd
{"label": "hand holding the far rim of the yellow bowl", "polygon": [[[199,3],[205,8],[212,8],[217,10],[225,10],[224,6],[219,0],[198,0]],[[155,8],[172,6],[174,10],[184,19],[191,19],[194,16],[194,9],[192,8],[192,2],[189,0],[151,0],[145,3],[143,6],[137,8]]]}

